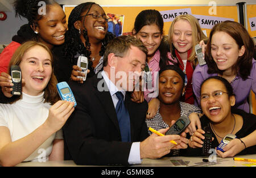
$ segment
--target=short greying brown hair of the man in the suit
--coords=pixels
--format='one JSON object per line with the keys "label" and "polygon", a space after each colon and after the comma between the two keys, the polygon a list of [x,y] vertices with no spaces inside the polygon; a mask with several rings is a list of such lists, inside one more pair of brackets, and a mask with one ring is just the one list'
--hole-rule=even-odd
{"label": "short greying brown hair of the man in the suit", "polygon": [[141,40],[136,39],[133,36],[118,36],[109,41],[108,45],[106,46],[103,66],[108,65],[108,56],[110,53],[114,53],[117,57],[123,57],[126,55],[128,49],[130,49],[131,46],[139,48],[143,53],[147,55],[147,48],[143,45]]}

